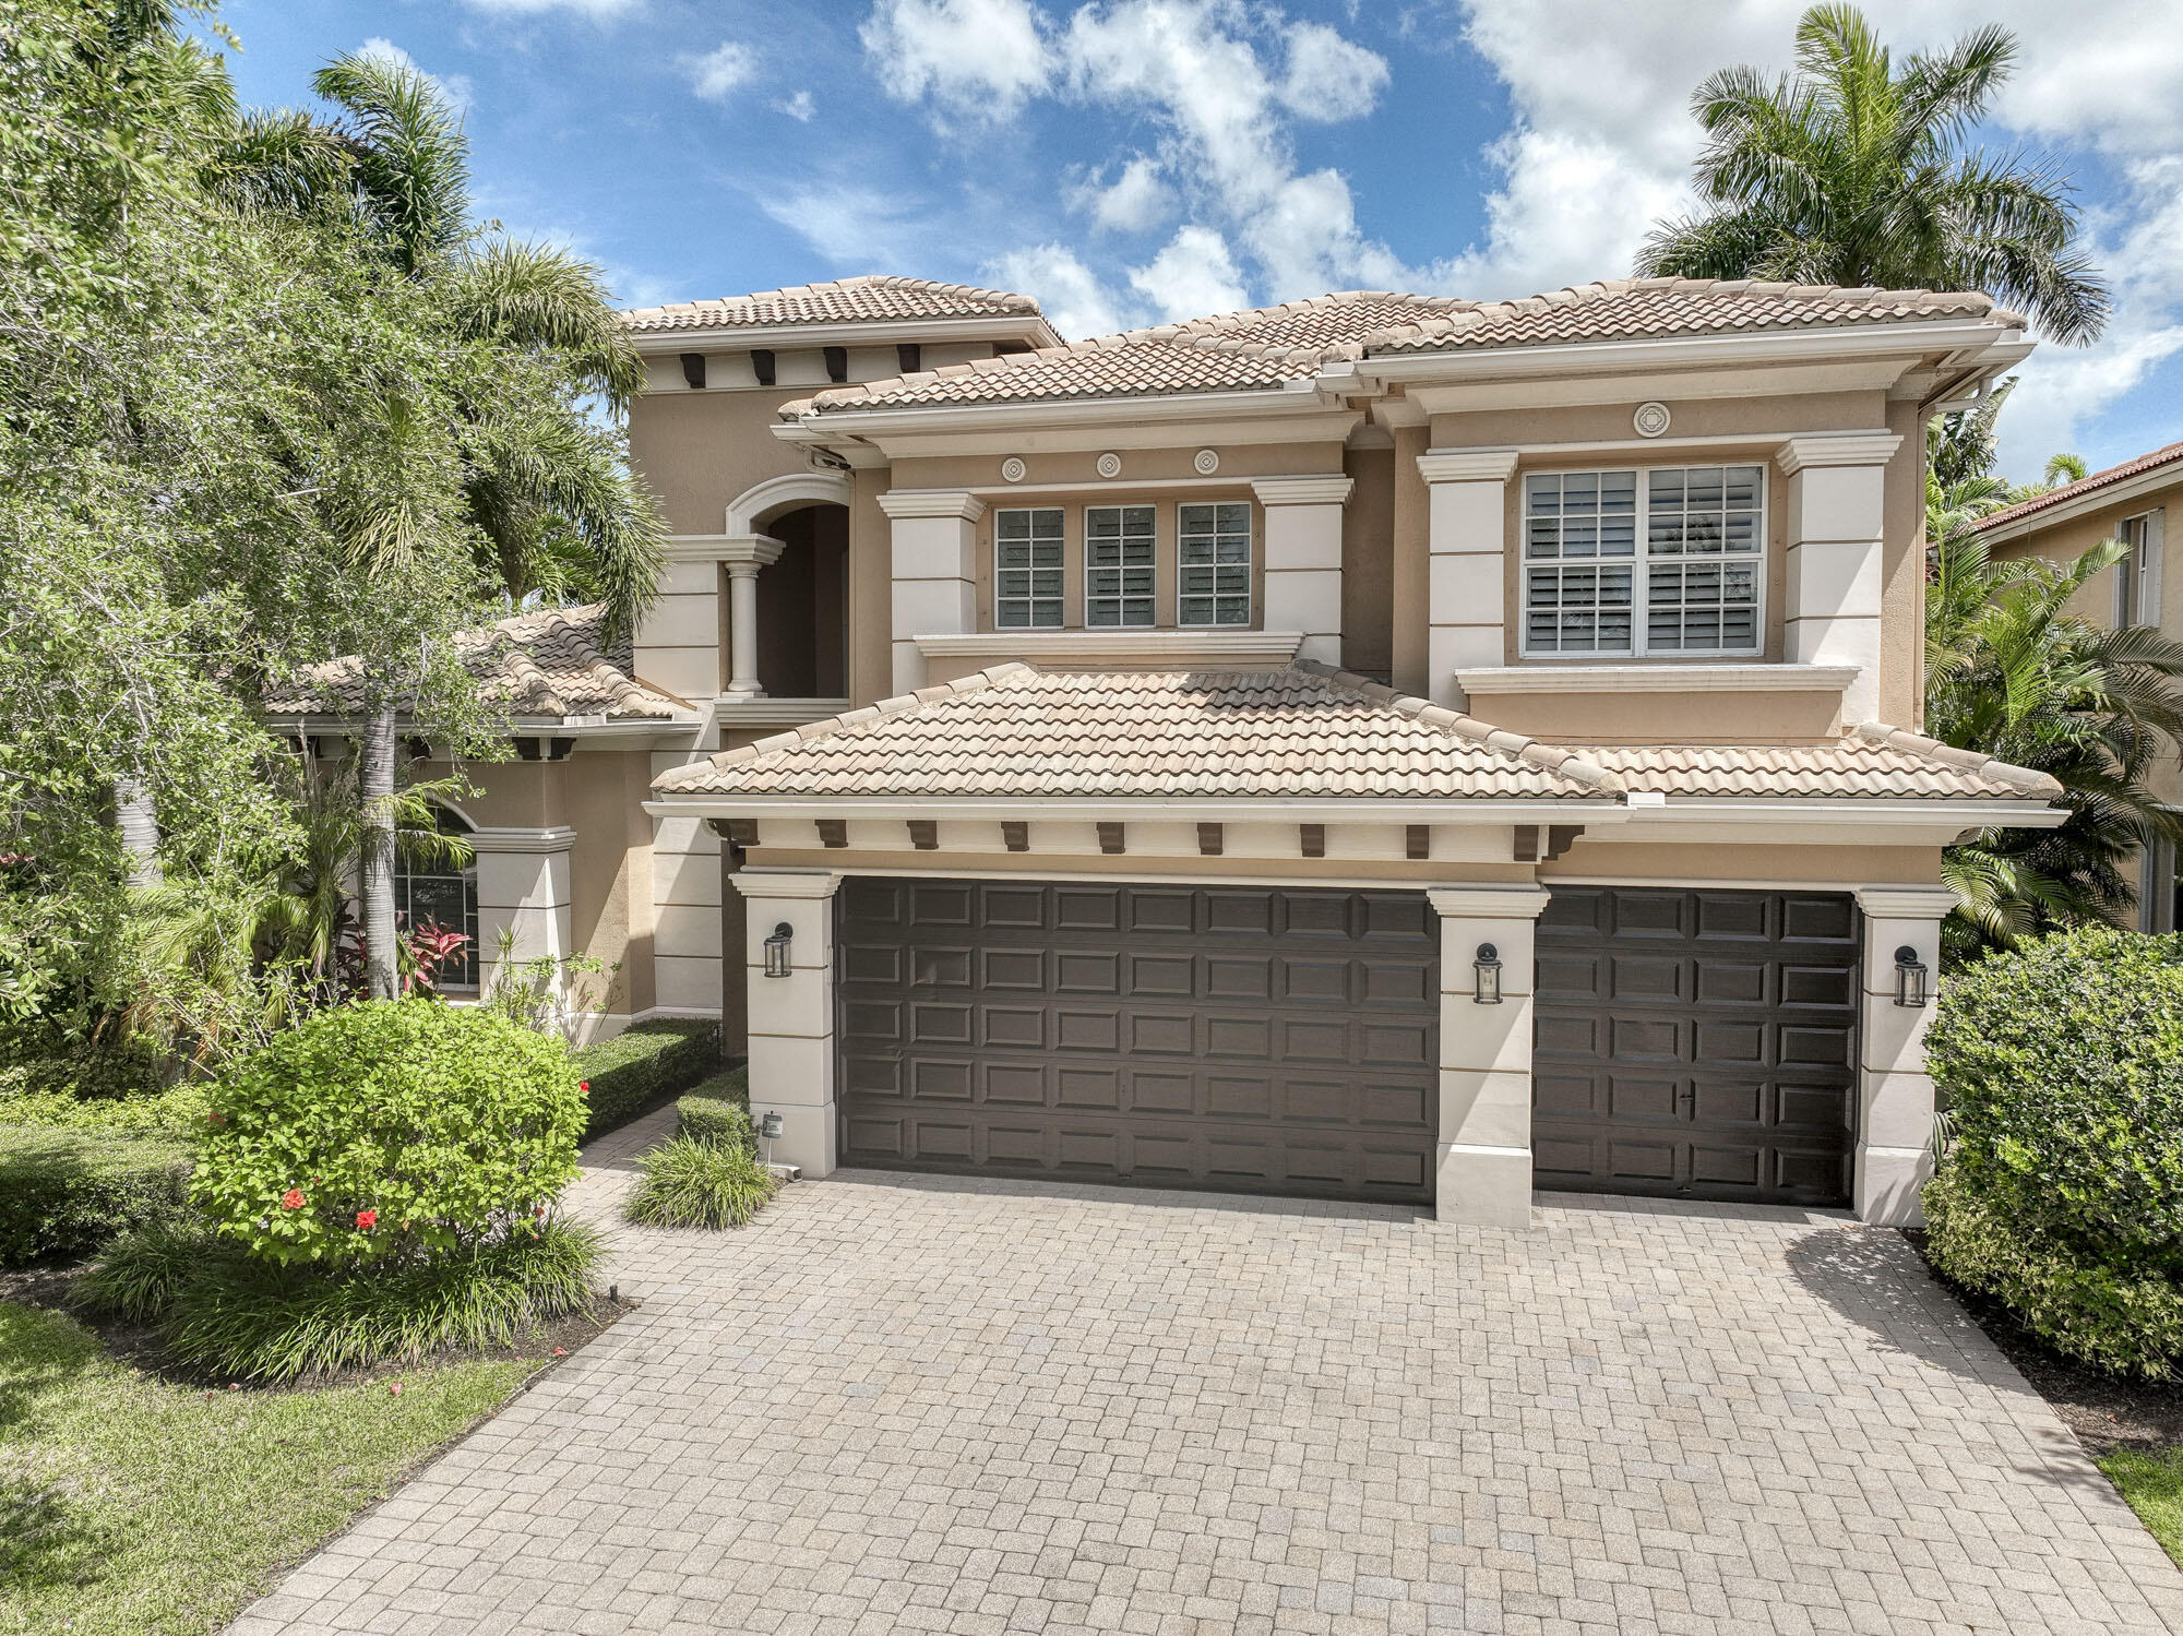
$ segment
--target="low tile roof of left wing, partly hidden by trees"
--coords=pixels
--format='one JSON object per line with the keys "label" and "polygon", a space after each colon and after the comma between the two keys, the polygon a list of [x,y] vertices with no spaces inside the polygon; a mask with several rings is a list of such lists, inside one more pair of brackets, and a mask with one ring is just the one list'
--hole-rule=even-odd
{"label": "low tile roof of left wing, partly hidden by trees", "polygon": [[[544,609],[454,637],[489,702],[517,718],[605,715],[616,722],[690,720],[694,707],[629,674],[627,646],[605,641],[607,609]],[[306,667],[266,698],[269,715],[356,715],[362,665],[334,659]]]}

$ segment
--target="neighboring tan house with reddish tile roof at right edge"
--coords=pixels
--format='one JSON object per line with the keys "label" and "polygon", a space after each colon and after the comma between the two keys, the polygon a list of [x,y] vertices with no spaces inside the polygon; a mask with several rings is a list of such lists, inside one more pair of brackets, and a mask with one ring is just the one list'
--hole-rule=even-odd
{"label": "neighboring tan house with reddish tile roof at right edge", "polygon": [[[2144,624],[2183,639],[2183,574],[2163,574],[2170,552],[2168,513],[2183,517],[2183,443],[2093,471],[2043,495],[1993,513],[1978,524],[1997,558],[2043,556],[2074,563],[2104,539],[2120,541],[2122,561],[2078,591],[2072,611],[2118,628]],[[2163,805],[2183,809],[2183,766],[2163,761],[2148,774]],[[2176,849],[2157,842],[2139,857],[2137,929],[2183,929],[2183,879]]]}

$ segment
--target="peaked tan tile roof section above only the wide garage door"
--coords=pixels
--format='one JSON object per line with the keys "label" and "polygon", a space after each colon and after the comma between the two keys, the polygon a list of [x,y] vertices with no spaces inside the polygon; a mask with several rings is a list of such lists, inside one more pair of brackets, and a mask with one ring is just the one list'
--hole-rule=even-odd
{"label": "peaked tan tile roof section above only the wide garage door", "polygon": [[1611,798],[1602,785],[1567,753],[1489,746],[1454,711],[1323,665],[1083,674],[1022,663],[777,733],[655,783],[768,796]]}

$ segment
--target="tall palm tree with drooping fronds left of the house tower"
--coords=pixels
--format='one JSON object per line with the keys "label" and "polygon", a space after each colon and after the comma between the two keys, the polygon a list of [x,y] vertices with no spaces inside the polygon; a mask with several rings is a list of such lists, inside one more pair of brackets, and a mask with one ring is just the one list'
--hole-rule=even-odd
{"label": "tall palm tree with drooping fronds left of the house tower", "polygon": [[[585,412],[585,399],[603,399],[620,414],[644,380],[598,268],[478,227],[469,142],[430,76],[384,57],[345,55],[312,85],[341,116],[255,118],[225,185],[247,201],[299,209],[338,203],[393,277],[430,292],[448,345],[469,364],[454,377],[454,441],[478,569],[515,602],[533,593],[605,600],[609,628],[629,630],[653,596],[666,534],[618,436]],[[382,419],[399,434],[402,406],[389,406]],[[391,504],[367,506],[343,537],[373,574],[404,572],[445,543]],[[397,689],[378,689],[358,766],[373,997],[391,997],[397,984],[399,707]]]}

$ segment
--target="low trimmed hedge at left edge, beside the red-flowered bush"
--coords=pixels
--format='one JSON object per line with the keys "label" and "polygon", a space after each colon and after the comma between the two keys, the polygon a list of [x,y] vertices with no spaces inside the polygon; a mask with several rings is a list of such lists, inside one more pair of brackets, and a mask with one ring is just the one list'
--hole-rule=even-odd
{"label": "low trimmed hedge at left edge, beside the red-flowered bush", "polygon": [[129,1228],[172,1222],[188,1189],[190,1154],[168,1141],[0,1128],[0,1265],[83,1254]]}

